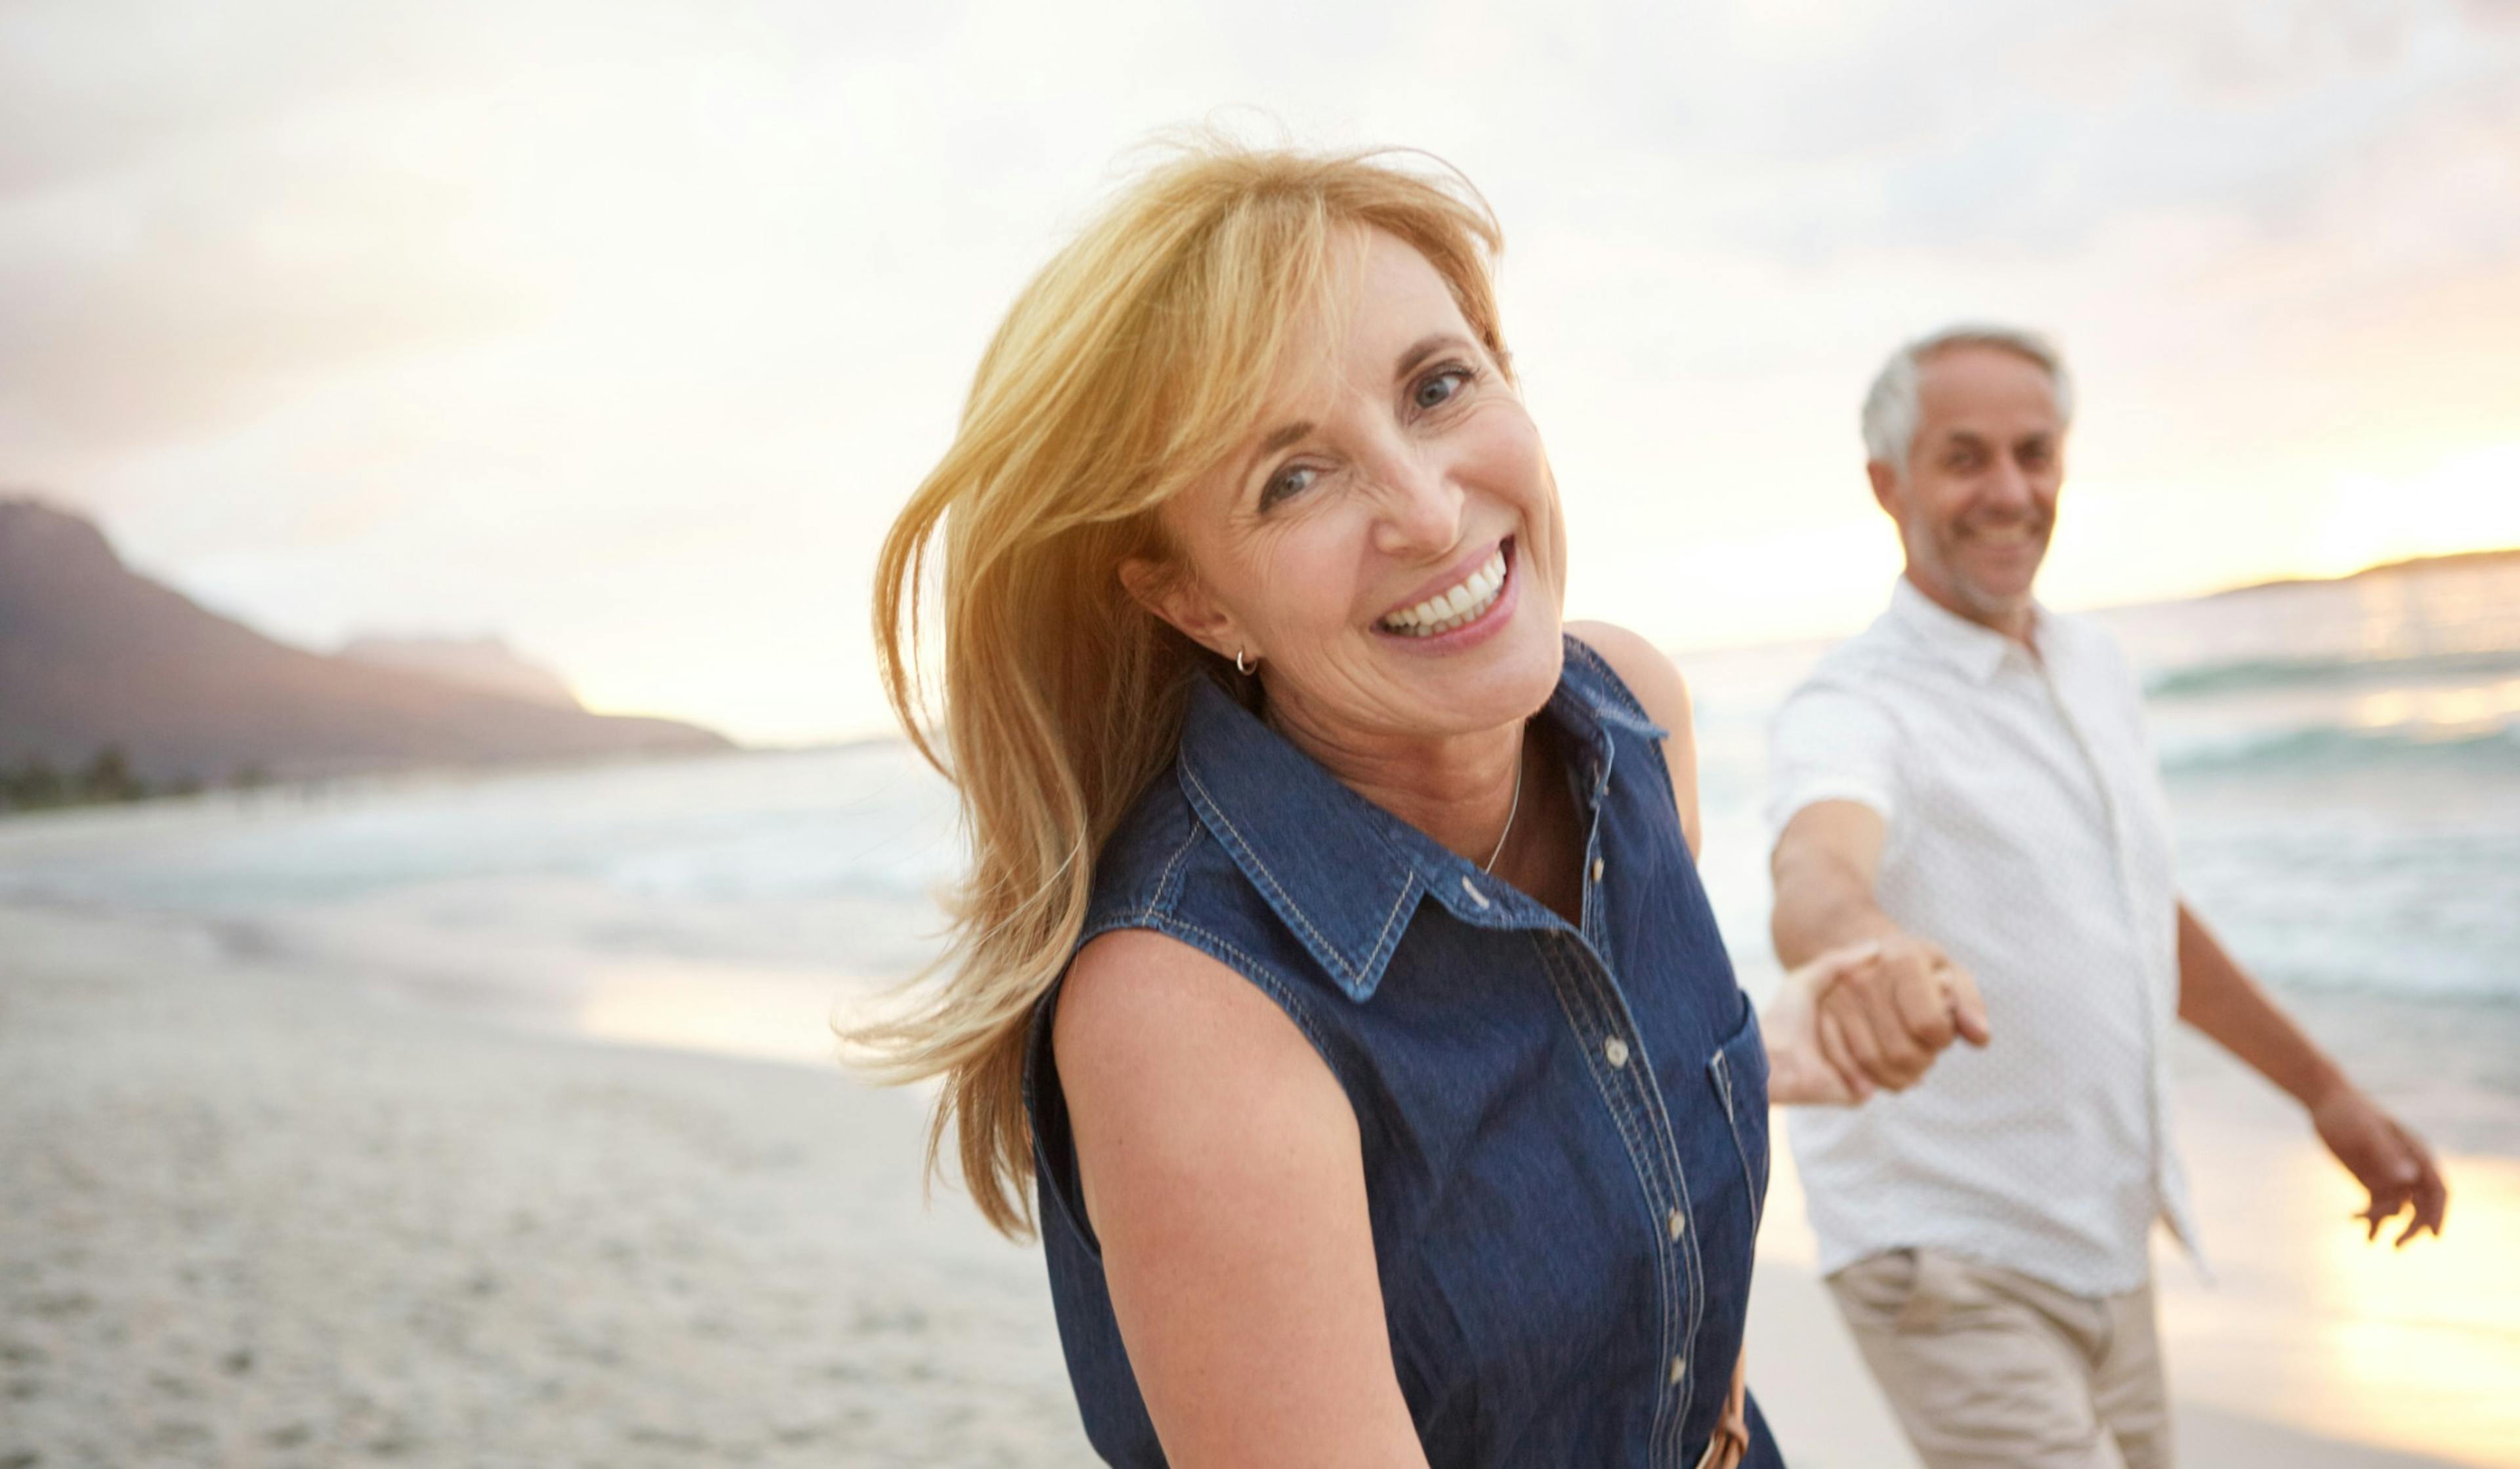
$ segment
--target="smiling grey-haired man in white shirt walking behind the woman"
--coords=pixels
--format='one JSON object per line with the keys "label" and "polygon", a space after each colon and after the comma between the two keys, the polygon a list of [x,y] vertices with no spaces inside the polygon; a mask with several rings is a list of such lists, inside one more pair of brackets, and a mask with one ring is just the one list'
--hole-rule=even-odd
{"label": "smiling grey-haired man in white shirt walking behind the woman", "polygon": [[1908,569],[1890,610],[1777,713],[1777,952],[1880,942],[1895,1013],[1976,978],[1983,1051],[1822,1020],[1905,1078],[1794,1116],[1819,1265],[1933,1469],[2170,1464],[2147,1235],[2195,1240],[2170,1139],[2172,1018],[2308,1109],[2371,1192],[2369,1232],[2439,1235],[2424,1144],[2303,1036],[2180,902],[2134,680],[2097,625],[2031,600],[2071,386],[2056,350],[1953,328],[1865,398],[1872,499]]}

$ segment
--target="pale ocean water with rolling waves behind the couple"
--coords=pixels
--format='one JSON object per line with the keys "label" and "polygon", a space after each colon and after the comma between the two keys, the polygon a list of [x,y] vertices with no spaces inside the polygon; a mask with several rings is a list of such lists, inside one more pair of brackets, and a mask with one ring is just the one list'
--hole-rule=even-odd
{"label": "pale ocean water with rolling waves behind the couple", "polygon": [[[2520,559],[2099,617],[2145,678],[2197,912],[2359,1073],[2429,1091],[2452,1141],[2520,1154]],[[1764,726],[1819,650],[1681,660],[1706,882],[1754,993],[1777,975]],[[0,821],[0,902],[794,1061],[932,952],[955,862],[953,796],[900,741]]]}

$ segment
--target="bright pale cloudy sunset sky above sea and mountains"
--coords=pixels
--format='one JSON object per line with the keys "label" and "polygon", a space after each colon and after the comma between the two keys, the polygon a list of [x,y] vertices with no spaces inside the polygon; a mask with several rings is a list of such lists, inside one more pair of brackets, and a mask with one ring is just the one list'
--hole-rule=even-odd
{"label": "bright pale cloudy sunset sky above sea and mountains", "polygon": [[13,0],[0,486],[257,627],[887,726],[874,544],[1026,277],[1217,121],[1504,222],[1570,615],[1898,572],[1855,406],[2054,333],[2059,607],[2520,544],[2520,0]]}

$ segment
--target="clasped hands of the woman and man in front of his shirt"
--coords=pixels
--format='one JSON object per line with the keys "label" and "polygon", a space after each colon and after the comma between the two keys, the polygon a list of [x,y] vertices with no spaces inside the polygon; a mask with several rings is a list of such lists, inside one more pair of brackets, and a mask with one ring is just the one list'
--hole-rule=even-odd
{"label": "clasped hands of the woman and man in front of his shirt", "polygon": [[1943,950],[1908,937],[1830,950],[1792,970],[1764,1015],[1769,1101],[1857,1104],[1905,1091],[1956,1038],[1986,1046],[1986,1000]]}

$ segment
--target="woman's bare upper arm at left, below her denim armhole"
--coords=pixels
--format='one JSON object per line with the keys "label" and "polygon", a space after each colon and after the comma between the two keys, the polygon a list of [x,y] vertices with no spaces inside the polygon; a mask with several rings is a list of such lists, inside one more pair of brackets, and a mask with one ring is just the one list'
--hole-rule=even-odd
{"label": "woman's bare upper arm at left, below her denim armhole", "polygon": [[1076,955],[1051,1041],[1164,1456],[1426,1469],[1391,1368],[1356,1114],[1250,980],[1147,930]]}

